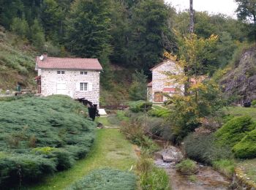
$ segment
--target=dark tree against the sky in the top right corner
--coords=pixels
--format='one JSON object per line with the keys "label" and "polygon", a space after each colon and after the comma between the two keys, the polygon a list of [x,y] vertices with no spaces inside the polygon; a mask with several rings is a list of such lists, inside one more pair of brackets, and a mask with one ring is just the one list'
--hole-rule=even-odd
{"label": "dark tree against the sky in the top right corner", "polygon": [[256,41],[256,0],[235,0],[238,3],[236,9],[239,19],[252,23],[252,34]]}

